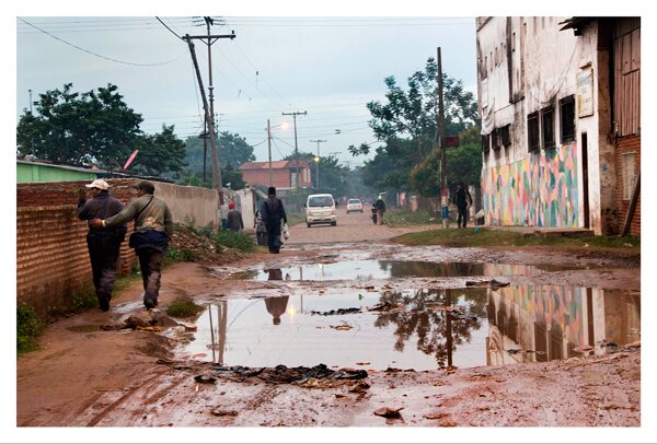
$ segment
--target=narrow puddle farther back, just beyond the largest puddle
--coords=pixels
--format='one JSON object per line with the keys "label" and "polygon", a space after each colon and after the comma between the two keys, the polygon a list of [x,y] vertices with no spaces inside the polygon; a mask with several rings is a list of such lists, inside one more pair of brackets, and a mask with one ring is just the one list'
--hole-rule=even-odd
{"label": "narrow puddle farther back, just beyond the largest puddle", "polygon": [[580,269],[561,265],[517,265],[482,262],[427,262],[405,260],[347,260],[332,264],[312,264],[252,270],[234,276],[253,280],[366,280],[391,278],[443,278],[470,276],[537,276],[541,272]]}

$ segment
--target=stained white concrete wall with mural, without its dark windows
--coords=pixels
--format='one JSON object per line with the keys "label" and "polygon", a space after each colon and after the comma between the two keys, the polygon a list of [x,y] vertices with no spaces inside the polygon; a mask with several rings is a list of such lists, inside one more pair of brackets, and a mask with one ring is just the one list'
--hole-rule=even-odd
{"label": "stained white concrete wall with mural, without its dark windows", "polygon": [[[482,133],[510,124],[511,144],[484,153],[482,194],[486,224],[585,226],[581,135],[587,135],[589,226],[609,231],[614,213],[613,147],[600,137],[606,84],[597,33],[560,31],[566,17],[488,17],[477,30]],[[497,59],[495,54],[497,52]],[[600,66],[599,66],[600,63]],[[577,94],[577,74],[593,70],[592,116],[577,118],[576,140],[562,142],[558,101]],[[602,75],[600,79],[599,77]],[[607,102],[609,103],[609,102]],[[527,116],[554,107],[554,149],[528,150]],[[607,107],[609,108],[609,107]],[[604,110],[602,110],[604,113]],[[609,174],[609,176],[607,176]],[[611,182],[611,183],[610,183]]]}

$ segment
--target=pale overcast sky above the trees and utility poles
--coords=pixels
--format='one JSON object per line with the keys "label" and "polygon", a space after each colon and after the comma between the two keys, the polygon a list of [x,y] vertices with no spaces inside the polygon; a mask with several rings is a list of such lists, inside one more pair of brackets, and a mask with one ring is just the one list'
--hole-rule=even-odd
{"label": "pale overcast sky above the trees and utility poles", "polygon": [[[350,166],[347,147],[374,142],[366,104],[383,101],[384,78],[402,86],[441,47],[443,71],[476,91],[475,26],[468,16],[274,17],[226,15],[212,34],[234,39],[211,45],[215,114],[221,131],[244,137],[267,160],[266,124],[297,118],[300,151],[335,154]],[[16,121],[38,94],[87,92],[113,83],[152,133],[175,125],[182,139],[203,130],[203,100],[187,44],[176,37],[205,35],[201,16],[28,16],[16,17]],[[208,87],[207,45],[196,40],[204,86]],[[293,126],[274,128],[273,160],[292,153]],[[376,144],[374,144],[376,147]]]}

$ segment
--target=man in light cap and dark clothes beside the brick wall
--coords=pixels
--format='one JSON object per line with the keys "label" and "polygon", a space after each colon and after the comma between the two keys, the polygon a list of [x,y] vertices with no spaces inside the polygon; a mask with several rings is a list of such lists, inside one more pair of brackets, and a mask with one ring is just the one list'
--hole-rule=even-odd
{"label": "man in light cap and dark clothes beside the brick wall", "polygon": [[120,252],[120,243],[126,236],[127,226],[120,224],[112,227],[95,227],[91,224],[94,218],[110,218],[123,210],[123,203],[110,196],[110,185],[103,179],[96,179],[85,185],[91,194],[91,199],[85,199],[85,194],[78,200],[78,218],[88,221],[87,247],[91,259],[93,287],[95,288],[99,305],[103,312],[110,309],[114,281],[116,280],[116,265]]}

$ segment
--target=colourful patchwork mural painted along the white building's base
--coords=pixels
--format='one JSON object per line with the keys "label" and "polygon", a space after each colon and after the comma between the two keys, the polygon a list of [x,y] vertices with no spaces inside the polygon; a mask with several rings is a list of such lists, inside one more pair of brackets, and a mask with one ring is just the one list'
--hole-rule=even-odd
{"label": "colourful patchwork mural painted along the white building's base", "polygon": [[578,172],[575,143],[485,168],[482,198],[486,224],[578,226]]}

